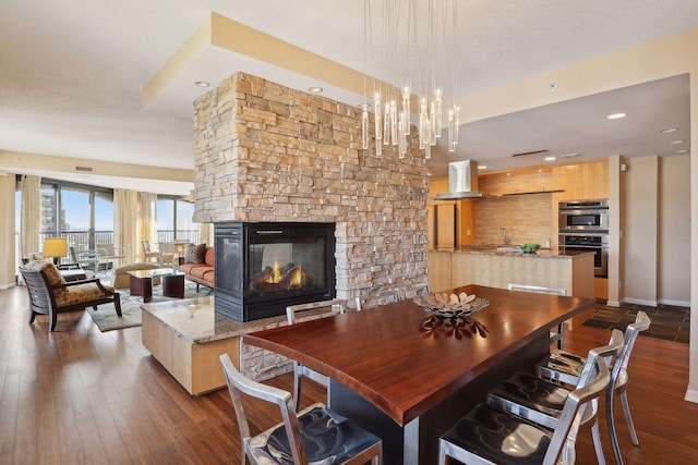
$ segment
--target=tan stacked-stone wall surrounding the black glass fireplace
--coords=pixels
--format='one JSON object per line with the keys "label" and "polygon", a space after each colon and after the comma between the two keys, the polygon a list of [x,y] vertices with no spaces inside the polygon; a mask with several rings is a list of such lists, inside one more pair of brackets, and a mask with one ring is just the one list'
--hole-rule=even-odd
{"label": "tan stacked-stone wall surrounding the black glass fireplace", "polygon": [[378,157],[373,140],[361,149],[358,108],[243,73],[194,107],[195,222],[335,222],[337,297],[426,285],[428,171],[416,131],[405,159],[393,147]]}

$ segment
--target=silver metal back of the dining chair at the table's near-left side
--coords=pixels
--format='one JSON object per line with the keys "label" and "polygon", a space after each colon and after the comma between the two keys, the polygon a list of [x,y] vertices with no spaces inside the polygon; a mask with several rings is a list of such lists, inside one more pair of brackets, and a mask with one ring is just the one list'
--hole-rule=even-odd
{"label": "silver metal back of the dining chair at the table's near-left side", "polygon": [[[291,454],[293,456],[294,464],[306,464],[308,458],[305,456],[305,450],[301,440],[300,428],[298,426],[298,418],[296,416],[296,405],[291,393],[284,391],[282,389],[274,388],[272,386],[262,384],[261,382],[251,380],[244,376],[232,364],[232,360],[228,354],[220,355],[220,364],[226,376],[226,383],[228,384],[228,391],[230,392],[230,399],[232,400],[232,406],[236,411],[238,418],[238,426],[240,427],[240,438],[242,439],[242,463],[244,464],[244,456],[248,455],[252,463],[254,457],[251,456],[249,441],[250,424],[244,409],[243,397],[241,394],[246,394],[251,397],[255,397],[265,402],[276,404],[284,419],[284,427],[286,435],[288,436],[288,442],[291,448]],[[261,428],[266,429],[265,427]]]}

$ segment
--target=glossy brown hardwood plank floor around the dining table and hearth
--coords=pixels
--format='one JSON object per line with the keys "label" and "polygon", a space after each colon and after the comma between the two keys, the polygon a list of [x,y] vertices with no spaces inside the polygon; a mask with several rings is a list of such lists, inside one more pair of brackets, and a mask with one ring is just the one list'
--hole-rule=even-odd
{"label": "glossy brown hardwood plank floor around the dining table and hearth", "polygon": [[[227,390],[190,396],[141,345],[141,328],[101,333],[85,313],[28,325],[26,291],[0,291],[1,464],[239,464],[238,426]],[[566,348],[583,353],[609,333],[580,327]],[[683,400],[688,344],[639,338],[630,360],[630,404],[640,448],[630,444],[616,403],[626,464],[698,461],[698,404]],[[290,376],[269,383],[290,389]],[[302,406],[324,402],[303,386]],[[270,421],[276,411],[258,405]],[[267,425],[266,423],[263,426]],[[253,424],[253,429],[260,425]],[[601,419],[606,461],[613,453]],[[577,463],[595,463],[582,430]]]}

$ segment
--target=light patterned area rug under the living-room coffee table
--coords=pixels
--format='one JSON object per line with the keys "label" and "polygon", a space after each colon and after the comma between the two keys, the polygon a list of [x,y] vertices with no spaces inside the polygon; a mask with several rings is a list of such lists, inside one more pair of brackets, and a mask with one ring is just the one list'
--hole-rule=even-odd
{"label": "light patterned area rug under the living-room coffee table", "polygon": [[[133,328],[141,326],[141,305],[143,297],[129,294],[128,289],[120,289],[121,294],[121,317],[117,316],[113,304],[99,305],[96,310],[88,308],[87,313],[99,328],[99,331],[106,332],[115,329]],[[195,284],[186,284],[184,287],[184,298],[205,297],[213,294],[213,290],[201,286],[196,292]],[[176,301],[176,298],[164,297],[160,285],[153,286],[153,299],[148,304],[156,302]]]}

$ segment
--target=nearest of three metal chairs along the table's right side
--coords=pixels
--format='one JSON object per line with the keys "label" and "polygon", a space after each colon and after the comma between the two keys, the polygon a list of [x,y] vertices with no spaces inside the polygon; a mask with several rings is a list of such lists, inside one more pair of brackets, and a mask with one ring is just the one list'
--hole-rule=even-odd
{"label": "nearest of three metal chairs along the table's right side", "polygon": [[585,376],[577,388],[566,395],[553,428],[537,425],[489,404],[478,404],[441,436],[438,465],[446,465],[446,457],[470,465],[573,464],[581,414],[590,402],[598,401],[610,379],[602,354],[590,351]]}

